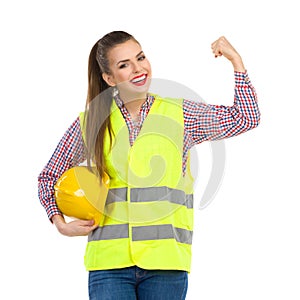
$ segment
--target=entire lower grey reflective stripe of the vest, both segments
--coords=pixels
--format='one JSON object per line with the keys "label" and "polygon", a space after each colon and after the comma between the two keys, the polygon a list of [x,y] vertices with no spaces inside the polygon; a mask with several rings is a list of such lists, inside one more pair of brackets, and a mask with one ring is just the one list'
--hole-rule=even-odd
{"label": "entire lower grey reflective stripe of the vest, both segments", "polygon": [[[132,227],[132,241],[175,239],[179,243],[192,244],[193,232],[173,227],[171,224]],[[98,227],[88,241],[114,240],[129,238],[129,225],[116,224]]]}

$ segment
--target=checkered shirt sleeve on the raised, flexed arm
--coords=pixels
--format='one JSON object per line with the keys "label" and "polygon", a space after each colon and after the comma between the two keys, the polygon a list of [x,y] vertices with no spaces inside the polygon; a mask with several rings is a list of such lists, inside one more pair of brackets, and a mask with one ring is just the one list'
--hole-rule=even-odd
{"label": "checkered shirt sleeve on the raised, flexed arm", "polygon": [[220,140],[258,126],[260,111],[257,94],[248,73],[235,72],[234,104],[211,105],[184,100],[185,130],[190,146],[207,140]]}

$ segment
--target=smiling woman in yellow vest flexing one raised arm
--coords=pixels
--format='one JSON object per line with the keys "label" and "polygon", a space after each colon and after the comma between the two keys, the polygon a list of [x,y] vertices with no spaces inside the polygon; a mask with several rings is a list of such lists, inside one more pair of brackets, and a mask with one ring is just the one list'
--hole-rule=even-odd
{"label": "smiling woman in yellow vest flexing one raised arm", "polygon": [[[151,65],[130,34],[114,31],[91,50],[86,113],[66,131],[39,175],[39,197],[61,234],[89,235],[90,299],[185,299],[193,232],[189,150],[259,123],[256,93],[225,37],[212,43],[235,75],[234,105],[149,93]],[[87,160],[110,177],[105,218],[66,222],[54,198],[64,171]]]}

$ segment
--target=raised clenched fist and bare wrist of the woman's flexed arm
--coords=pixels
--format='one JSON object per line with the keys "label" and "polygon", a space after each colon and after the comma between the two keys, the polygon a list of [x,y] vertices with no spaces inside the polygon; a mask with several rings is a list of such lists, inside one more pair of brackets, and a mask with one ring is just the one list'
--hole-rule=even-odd
{"label": "raised clenched fist and bare wrist of the woman's flexed arm", "polygon": [[216,41],[214,41],[211,44],[211,49],[215,57],[222,55],[226,57],[232,63],[235,71],[246,71],[241,56],[224,36],[221,36]]}

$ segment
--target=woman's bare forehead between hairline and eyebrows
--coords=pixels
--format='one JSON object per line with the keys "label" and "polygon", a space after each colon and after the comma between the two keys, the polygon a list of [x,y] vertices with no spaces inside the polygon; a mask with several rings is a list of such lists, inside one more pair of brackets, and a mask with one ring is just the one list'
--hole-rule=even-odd
{"label": "woman's bare forehead between hairline and eyebrows", "polygon": [[118,44],[108,52],[108,60],[116,64],[121,60],[135,58],[142,51],[141,46],[134,40]]}

